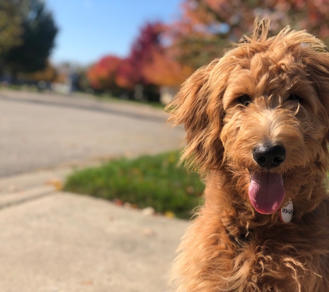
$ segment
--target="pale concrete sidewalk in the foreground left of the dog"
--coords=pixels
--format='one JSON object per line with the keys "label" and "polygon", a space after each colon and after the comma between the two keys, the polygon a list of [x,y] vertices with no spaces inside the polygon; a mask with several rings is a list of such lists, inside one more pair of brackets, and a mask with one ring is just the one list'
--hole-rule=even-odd
{"label": "pale concrete sidewalk in the foreground left of the dog", "polygon": [[0,291],[170,291],[188,221],[56,191],[69,172],[0,179]]}

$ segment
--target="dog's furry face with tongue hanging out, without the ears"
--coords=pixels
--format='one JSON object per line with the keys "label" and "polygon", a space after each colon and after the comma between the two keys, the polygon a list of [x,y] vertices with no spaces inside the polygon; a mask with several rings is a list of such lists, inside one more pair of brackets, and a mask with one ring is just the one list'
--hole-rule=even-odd
{"label": "dog's furry face with tongue hanging out, without the ears", "polygon": [[308,69],[299,54],[281,49],[242,57],[222,96],[224,161],[233,172],[246,171],[242,186],[249,184],[249,199],[262,214],[278,210],[291,176],[323,158],[328,129]]}

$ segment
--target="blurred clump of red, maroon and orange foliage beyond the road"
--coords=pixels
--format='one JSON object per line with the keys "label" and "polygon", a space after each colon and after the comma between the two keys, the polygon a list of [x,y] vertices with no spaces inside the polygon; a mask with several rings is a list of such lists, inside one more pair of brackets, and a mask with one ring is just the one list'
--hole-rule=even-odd
{"label": "blurred clump of red, maroon and orange foliage beyond the road", "polygon": [[87,72],[95,89],[134,89],[143,86],[177,85],[183,82],[193,69],[181,66],[163,45],[165,26],[159,22],[146,24],[132,44],[130,55],[125,59],[108,55]]}

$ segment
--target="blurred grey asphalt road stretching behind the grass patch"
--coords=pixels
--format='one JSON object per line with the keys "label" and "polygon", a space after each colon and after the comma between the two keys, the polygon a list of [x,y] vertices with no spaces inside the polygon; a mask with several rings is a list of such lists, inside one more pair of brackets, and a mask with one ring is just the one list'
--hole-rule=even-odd
{"label": "blurred grey asphalt road stretching behind the grass patch", "polygon": [[141,104],[0,91],[0,177],[178,149],[184,130],[167,118]]}

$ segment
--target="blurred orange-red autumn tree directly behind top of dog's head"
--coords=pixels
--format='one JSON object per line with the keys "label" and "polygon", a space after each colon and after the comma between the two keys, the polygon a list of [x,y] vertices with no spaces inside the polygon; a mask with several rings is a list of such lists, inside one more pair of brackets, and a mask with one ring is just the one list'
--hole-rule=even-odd
{"label": "blurred orange-red autumn tree directly behind top of dog's head", "polygon": [[272,33],[287,25],[329,42],[329,0],[185,0],[170,28],[180,62],[198,68],[251,32],[256,17],[271,19]]}

